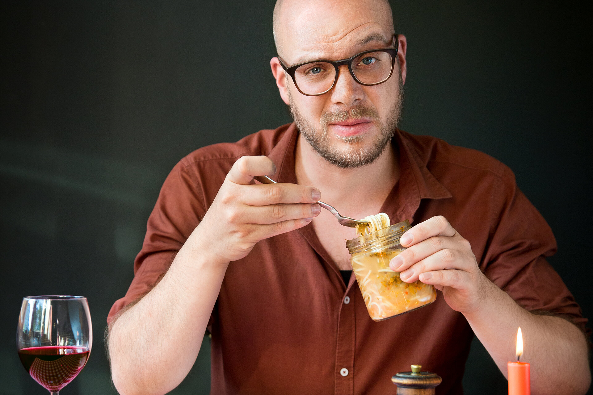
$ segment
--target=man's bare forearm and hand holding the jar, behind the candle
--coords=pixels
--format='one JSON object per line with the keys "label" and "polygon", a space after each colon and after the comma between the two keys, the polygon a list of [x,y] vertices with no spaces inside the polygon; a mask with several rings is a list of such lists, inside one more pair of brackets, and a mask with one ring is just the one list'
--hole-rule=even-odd
{"label": "man's bare forearm and hand holding the jar, behind the candle", "polygon": [[401,236],[407,249],[390,267],[406,282],[420,280],[442,290],[460,311],[500,371],[515,360],[517,327],[524,333],[524,357],[531,363],[534,394],[584,394],[591,382],[585,336],[559,317],[522,309],[480,271],[470,243],[442,216],[421,222]]}

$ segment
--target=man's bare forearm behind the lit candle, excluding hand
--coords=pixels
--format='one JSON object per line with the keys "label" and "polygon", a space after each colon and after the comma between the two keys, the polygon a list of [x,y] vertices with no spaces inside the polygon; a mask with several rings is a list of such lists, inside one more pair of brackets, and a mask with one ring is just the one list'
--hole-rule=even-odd
{"label": "man's bare forearm behind the lit candle, excluding hand", "polygon": [[492,282],[485,288],[480,308],[464,315],[505,377],[506,363],[516,359],[515,339],[521,326],[521,360],[531,364],[532,393],[586,393],[591,374],[583,333],[562,318],[522,309]]}

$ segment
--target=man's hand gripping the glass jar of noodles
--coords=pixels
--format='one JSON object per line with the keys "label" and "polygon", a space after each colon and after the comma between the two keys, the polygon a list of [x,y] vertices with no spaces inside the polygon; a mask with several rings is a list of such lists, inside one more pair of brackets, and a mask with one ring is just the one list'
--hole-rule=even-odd
{"label": "man's hand gripping the glass jar of noodles", "polygon": [[405,282],[420,280],[442,291],[451,309],[472,313],[479,309],[492,282],[480,271],[470,242],[443,216],[417,224],[401,236],[406,247],[391,259],[392,270]]}

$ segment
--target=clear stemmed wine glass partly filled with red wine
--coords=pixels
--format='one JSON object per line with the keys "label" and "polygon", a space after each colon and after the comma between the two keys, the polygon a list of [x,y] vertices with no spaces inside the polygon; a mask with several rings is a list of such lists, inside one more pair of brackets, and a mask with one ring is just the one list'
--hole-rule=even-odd
{"label": "clear stemmed wine glass partly filled with red wine", "polygon": [[93,346],[87,298],[28,296],[18,317],[18,357],[27,372],[58,395],[84,368]]}

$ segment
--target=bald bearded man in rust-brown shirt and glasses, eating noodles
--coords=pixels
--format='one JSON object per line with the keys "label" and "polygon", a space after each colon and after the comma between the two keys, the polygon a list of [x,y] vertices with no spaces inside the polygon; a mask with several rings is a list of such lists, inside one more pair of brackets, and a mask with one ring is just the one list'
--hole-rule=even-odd
{"label": "bald bearded man in rust-brown shirt and glasses, eating noodles", "polygon": [[[117,390],[176,387],[208,329],[213,394],[393,393],[391,375],[412,363],[460,393],[472,331],[506,374],[521,326],[534,393],[585,393],[585,320],[511,171],[396,129],[406,38],[388,3],[285,0],[274,16],[270,65],[295,123],[196,150],[168,176],[109,317]],[[391,268],[434,284],[435,303],[373,322],[340,275],[353,231],[322,194],[350,217],[410,219]]]}

